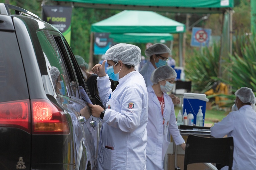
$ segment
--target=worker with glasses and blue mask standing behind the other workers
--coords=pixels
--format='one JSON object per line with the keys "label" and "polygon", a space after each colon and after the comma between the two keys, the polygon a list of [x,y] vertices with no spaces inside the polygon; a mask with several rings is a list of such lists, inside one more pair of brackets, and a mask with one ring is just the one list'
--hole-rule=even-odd
{"label": "worker with glasses and blue mask standing behind the other workers", "polygon": [[[146,64],[140,70],[140,74],[143,76],[146,86],[152,86],[153,83],[150,81],[150,76],[152,72],[163,65],[166,65],[166,61],[170,55],[170,48],[168,48],[165,44],[156,43],[149,46],[145,50],[145,55],[150,57],[150,60],[147,61]],[[180,99],[173,94],[169,95],[174,104],[179,104]]]}

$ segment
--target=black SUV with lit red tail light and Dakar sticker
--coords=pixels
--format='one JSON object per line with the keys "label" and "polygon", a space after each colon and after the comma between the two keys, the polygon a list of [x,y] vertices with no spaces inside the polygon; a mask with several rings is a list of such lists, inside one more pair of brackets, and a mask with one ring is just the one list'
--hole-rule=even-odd
{"label": "black SUV with lit red tail light and Dakar sticker", "polygon": [[[101,122],[63,35],[0,3],[0,170],[96,169]],[[85,118],[80,110],[85,108]]]}

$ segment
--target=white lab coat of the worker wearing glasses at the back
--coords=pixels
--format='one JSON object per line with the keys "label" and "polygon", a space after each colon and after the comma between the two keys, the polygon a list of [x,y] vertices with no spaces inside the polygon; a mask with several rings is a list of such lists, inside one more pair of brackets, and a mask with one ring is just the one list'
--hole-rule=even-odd
{"label": "white lab coat of the worker wearing glasses at the back", "polygon": [[147,87],[153,85],[153,83],[150,80],[150,76],[154,70],[155,67],[150,61],[147,61],[147,63],[144,64],[140,70],[140,74],[143,76]]}

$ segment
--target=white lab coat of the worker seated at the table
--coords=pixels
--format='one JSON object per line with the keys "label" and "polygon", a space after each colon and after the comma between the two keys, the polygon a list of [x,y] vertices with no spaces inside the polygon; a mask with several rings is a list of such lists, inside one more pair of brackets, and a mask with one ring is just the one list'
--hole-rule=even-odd
{"label": "white lab coat of the worker seated at the table", "polygon": [[[221,122],[211,127],[213,137],[234,138],[232,170],[256,169],[256,112],[250,105],[230,112]],[[222,169],[228,169],[223,167]]]}

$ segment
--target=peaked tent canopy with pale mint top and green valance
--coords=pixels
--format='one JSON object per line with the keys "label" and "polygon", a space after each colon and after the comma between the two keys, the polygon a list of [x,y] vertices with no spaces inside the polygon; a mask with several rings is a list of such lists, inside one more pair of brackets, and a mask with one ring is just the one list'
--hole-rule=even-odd
{"label": "peaked tent canopy with pale mint top and green valance", "polygon": [[124,10],[91,26],[100,33],[183,33],[185,25],[153,11]]}

